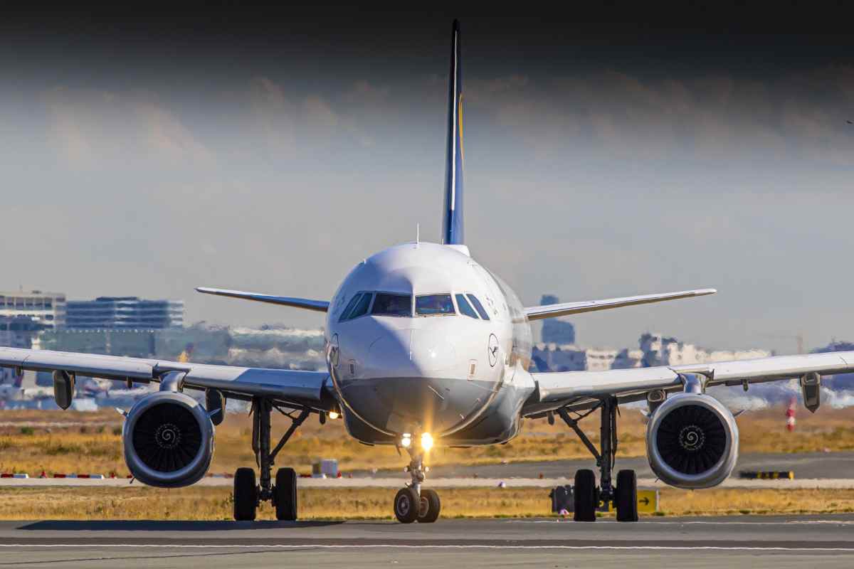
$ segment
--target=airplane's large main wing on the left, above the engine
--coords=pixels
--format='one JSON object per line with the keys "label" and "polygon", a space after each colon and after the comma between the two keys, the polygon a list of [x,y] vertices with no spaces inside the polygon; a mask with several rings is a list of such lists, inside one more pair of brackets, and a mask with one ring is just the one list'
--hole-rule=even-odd
{"label": "airplane's large main wing on the left, above the engine", "polygon": [[160,381],[168,372],[184,372],[184,386],[216,389],[226,398],[274,398],[284,404],[329,410],[333,406],[325,371],[238,368],[203,363],[168,362],[137,357],[100,356],[69,351],[24,350],[0,347],[0,367],[32,371],[65,371],[109,380],[137,383]]}

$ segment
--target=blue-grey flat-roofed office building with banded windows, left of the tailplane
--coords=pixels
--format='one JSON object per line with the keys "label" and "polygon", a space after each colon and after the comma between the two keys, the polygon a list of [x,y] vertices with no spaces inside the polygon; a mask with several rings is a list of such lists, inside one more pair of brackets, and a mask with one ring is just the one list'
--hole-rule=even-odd
{"label": "blue-grey flat-roofed office building with banded windows, left of the tailplane", "polygon": [[184,301],[145,300],[135,296],[70,300],[65,322],[72,330],[181,328],[184,326]]}

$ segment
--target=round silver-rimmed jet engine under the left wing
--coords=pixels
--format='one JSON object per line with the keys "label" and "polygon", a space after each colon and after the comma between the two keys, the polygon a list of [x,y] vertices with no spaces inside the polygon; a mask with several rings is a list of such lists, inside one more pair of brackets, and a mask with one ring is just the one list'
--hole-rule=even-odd
{"label": "round silver-rimmed jet engine under the left wing", "polygon": [[213,423],[196,399],[157,392],[137,401],[122,430],[125,462],[149,486],[194,484],[213,459]]}

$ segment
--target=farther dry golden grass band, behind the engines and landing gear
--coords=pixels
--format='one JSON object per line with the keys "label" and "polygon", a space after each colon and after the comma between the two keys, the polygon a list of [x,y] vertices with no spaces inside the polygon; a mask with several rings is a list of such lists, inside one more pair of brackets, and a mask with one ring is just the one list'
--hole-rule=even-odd
{"label": "farther dry golden grass band, behind the engines and landing gear", "polygon": [[[854,450],[854,408],[822,409],[816,415],[799,412],[798,429],[785,429],[785,409],[746,413],[738,419],[741,452],[809,452]],[[274,432],[287,421],[277,417]],[[582,427],[598,439],[599,416]],[[623,410],[619,421],[620,456],[643,456],[645,425],[636,410]],[[228,415],[217,427],[216,452],[211,471],[233,472],[254,463],[249,444],[251,423],[246,415]],[[73,411],[0,411],[0,472],[126,474],[121,450],[121,418],[112,410],[97,413]],[[484,464],[500,461],[543,461],[587,458],[588,451],[573,433],[557,422],[527,421],[524,431],[509,444],[471,449],[437,448],[428,463]],[[349,438],[342,421],[307,421],[279,455],[279,465],[308,472],[313,459],[337,458],[343,472],[362,468],[399,468],[406,462],[393,447],[367,447]]]}

